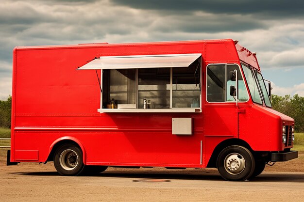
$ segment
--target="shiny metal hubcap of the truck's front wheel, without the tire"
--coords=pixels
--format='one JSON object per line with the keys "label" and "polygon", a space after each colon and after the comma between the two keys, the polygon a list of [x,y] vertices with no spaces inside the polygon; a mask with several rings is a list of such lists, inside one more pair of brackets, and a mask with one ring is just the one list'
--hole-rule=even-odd
{"label": "shiny metal hubcap of the truck's front wheel, without the tire", "polygon": [[238,153],[227,155],[225,158],[225,169],[233,175],[240,174],[245,169],[245,159]]}

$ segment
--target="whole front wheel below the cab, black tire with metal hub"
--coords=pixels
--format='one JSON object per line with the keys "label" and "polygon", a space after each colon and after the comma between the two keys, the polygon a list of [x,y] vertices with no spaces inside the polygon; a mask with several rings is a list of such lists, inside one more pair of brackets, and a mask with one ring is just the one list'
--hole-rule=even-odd
{"label": "whole front wheel below the cab, black tire with metal hub", "polygon": [[245,147],[233,145],[220,152],[217,159],[218,171],[227,181],[243,181],[252,176],[255,161]]}

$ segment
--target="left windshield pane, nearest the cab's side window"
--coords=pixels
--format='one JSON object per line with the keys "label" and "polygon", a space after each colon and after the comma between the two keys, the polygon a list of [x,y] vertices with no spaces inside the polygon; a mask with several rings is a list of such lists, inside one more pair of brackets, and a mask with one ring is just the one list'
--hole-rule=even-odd
{"label": "left windshield pane, nearest the cab's side window", "polygon": [[245,78],[247,80],[247,84],[248,84],[249,91],[250,91],[251,97],[253,99],[253,102],[263,105],[263,101],[262,101],[257,83],[255,82],[255,76],[254,76],[253,72],[251,71],[251,69],[249,67],[247,67],[244,64],[242,64],[242,69],[243,69]]}

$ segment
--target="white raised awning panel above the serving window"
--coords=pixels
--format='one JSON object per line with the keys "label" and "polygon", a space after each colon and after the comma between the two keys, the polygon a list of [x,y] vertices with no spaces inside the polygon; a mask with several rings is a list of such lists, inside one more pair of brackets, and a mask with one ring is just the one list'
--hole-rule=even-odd
{"label": "white raised awning panel above the serving window", "polygon": [[77,70],[188,67],[201,56],[202,54],[175,54],[100,57]]}

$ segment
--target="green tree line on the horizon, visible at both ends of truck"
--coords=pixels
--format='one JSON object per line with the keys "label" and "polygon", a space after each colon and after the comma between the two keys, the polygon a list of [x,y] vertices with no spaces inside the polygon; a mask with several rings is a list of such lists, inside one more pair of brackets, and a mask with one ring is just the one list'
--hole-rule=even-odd
{"label": "green tree line on the horizon, visible at both ends of truck", "polygon": [[[278,96],[273,94],[272,108],[292,117],[295,120],[295,130],[304,132],[304,97],[295,94],[294,96]],[[11,126],[12,97],[6,101],[0,100],[0,127],[10,128]]]}

